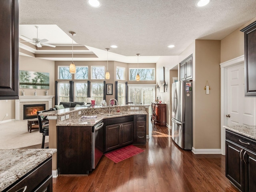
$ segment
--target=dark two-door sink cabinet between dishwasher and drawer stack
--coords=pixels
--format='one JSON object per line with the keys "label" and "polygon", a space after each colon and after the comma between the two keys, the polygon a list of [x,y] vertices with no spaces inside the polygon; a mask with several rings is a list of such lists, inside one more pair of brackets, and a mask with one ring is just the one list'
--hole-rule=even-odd
{"label": "dark two-door sink cabinet between dishwasher and drawer stack", "polygon": [[133,116],[106,119],[105,152],[132,144]]}

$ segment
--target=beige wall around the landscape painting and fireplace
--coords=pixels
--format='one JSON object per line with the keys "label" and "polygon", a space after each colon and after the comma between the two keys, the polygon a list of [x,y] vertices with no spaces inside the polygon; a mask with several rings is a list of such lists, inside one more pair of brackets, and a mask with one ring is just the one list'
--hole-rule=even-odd
{"label": "beige wall around the landscape painting and fireplace", "polygon": [[[48,95],[54,94],[54,61],[19,56],[19,68],[20,70],[26,71],[36,71],[36,72],[47,72],[50,75],[50,89],[48,90]],[[35,89],[24,89],[25,95],[34,95]],[[22,89],[19,90],[19,95],[21,95]],[[37,95],[45,95],[45,89],[37,89]],[[54,103],[54,102],[53,102]],[[0,111],[0,122],[15,119],[15,100],[0,100],[1,108],[4,110]],[[6,117],[6,113],[8,116]]]}

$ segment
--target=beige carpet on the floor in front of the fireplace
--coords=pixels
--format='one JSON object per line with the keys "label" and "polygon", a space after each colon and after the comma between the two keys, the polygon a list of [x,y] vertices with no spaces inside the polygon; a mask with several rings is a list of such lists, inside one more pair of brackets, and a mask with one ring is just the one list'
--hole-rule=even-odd
{"label": "beige carpet on the floor in front of the fireplace", "polygon": [[[0,124],[0,149],[15,149],[42,144],[39,130],[28,132],[27,120],[18,120]],[[45,137],[49,142],[49,137]]]}

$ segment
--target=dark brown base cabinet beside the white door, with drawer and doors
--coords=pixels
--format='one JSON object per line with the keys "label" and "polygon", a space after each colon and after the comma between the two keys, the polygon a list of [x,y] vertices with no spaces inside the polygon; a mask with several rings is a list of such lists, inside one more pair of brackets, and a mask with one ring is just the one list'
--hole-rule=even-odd
{"label": "dark brown base cabinet beside the white door, with drawer and doors", "polygon": [[242,192],[256,189],[256,141],[229,130],[226,130],[226,177]]}

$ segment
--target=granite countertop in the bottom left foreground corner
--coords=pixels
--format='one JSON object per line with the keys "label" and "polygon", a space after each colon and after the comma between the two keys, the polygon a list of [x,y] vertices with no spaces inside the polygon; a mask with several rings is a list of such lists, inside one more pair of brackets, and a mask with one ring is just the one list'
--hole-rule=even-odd
{"label": "granite countertop in the bottom left foreground corner", "polygon": [[0,191],[16,182],[56,151],[56,149],[1,149]]}

